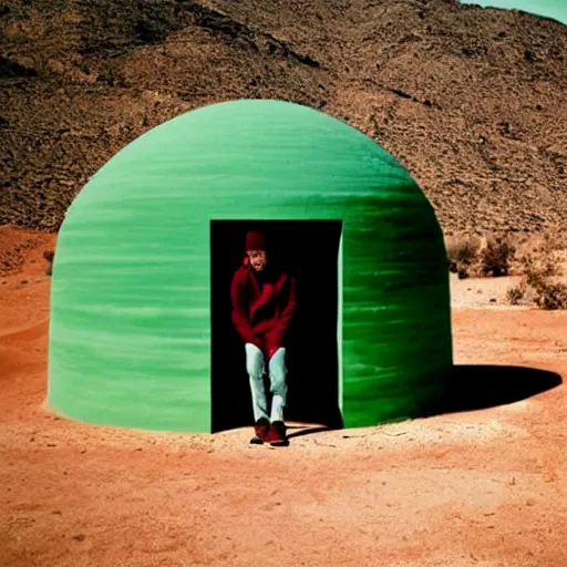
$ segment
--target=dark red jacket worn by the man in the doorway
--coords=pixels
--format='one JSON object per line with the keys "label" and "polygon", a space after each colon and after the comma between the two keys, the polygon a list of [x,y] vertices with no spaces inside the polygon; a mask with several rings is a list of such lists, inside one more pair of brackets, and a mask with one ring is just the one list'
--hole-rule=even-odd
{"label": "dark red jacket worn by the man in the doorway", "polygon": [[262,272],[241,266],[233,277],[230,299],[233,323],[245,342],[267,357],[286,346],[297,305],[293,276],[269,266]]}

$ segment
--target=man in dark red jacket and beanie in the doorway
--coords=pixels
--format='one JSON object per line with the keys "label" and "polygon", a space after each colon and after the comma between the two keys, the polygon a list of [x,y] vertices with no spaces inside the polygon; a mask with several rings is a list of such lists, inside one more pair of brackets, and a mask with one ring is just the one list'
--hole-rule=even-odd
{"label": "man in dark red jacket and beanie in the doorway", "polygon": [[[230,299],[250,380],[255,419],[250,443],[286,444],[286,339],[296,310],[296,279],[269,261],[266,238],[259,231],[246,236],[246,257],[234,275]],[[274,394],[269,415],[264,386],[266,361]]]}

